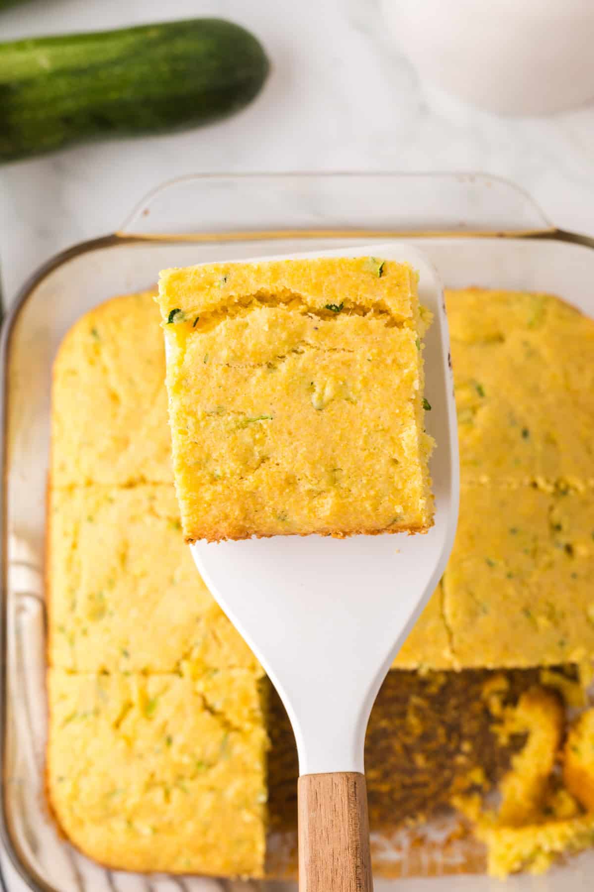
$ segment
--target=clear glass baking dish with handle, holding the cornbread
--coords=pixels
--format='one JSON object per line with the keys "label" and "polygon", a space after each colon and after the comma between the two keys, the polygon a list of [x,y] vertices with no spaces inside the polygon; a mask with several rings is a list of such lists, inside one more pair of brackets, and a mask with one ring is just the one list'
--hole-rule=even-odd
{"label": "clear glass baking dish with handle, holding the cornbread", "polygon": [[[406,238],[416,244],[446,285],[559,293],[594,316],[594,241],[555,229],[515,186],[476,175],[217,175],[175,180],[149,194],[116,233],[63,252],[20,291],[2,338],[0,827],[11,888],[17,882],[23,888],[22,881],[36,892],[219,888],[214,880],[195,877],[149,878],[104,870],[60,838],[47,813],[45,485],[51,368],[61,338],[81,314],[111,295],[152,285],[163,267],[378,238]],[[428,826],[423,832],[427,847],[422,857],[403,831],[374,840],[381,871],[400,877],[378,880],[378,890],[492,888],[493,881],[484,876],[456,875],[480,865],[480,849],[443,847],[443,827]],[[289,869],[282,842],[271,839],[276,875]],[[512,878],[508,888],[585,889],[593,870],[591,852],[543,880]],[[428,879],[434,874],[438,876]],[[255,885],[269,892],[293,888],[281,880]]]}

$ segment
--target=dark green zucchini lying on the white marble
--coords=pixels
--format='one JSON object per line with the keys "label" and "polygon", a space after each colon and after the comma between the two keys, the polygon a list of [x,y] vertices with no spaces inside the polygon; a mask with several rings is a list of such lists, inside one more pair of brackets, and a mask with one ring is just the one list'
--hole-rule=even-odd
{"label": "dark green zucchini lying on the white marble", "polygon": [[256,37],[221,19],[0,44],[0,161],[207,124],[250,102],[268,70]]}

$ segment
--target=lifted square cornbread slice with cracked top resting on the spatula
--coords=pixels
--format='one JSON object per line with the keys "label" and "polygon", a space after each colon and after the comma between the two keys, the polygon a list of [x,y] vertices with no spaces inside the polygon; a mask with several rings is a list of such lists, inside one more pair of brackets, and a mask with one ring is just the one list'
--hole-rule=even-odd
{"label": "lifted square cornbread slice with cracked top resting on the spatula", "polygon": [[426,532],[417,276],[369,257],[163,272],[183,532]]}

